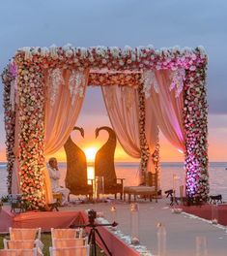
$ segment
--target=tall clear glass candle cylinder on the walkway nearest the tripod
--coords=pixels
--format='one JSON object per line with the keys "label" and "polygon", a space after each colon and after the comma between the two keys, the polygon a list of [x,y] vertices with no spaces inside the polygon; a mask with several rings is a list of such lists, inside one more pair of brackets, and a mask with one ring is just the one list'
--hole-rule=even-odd
{"label": "tall clear glass candle cylinder on the walkway nearest the tripod", "polygon": [[139,208],[137,204],[130,205],[130,241],[139,244]]}

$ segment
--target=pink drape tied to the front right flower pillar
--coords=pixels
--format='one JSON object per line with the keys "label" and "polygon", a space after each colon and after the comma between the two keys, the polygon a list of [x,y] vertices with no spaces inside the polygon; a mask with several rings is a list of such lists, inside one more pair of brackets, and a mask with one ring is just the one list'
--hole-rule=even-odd
{"label": "pink drape tied to the front right flower pillar", "polygon": [[146,110],[152,110],[156,122],[167,140],[178,149],[184,151],[184,99],[183,93],[175,96],[174,89],[170,91],[171,71],[156,71],[158,93],[152,88],[151,97],[146,100]]}

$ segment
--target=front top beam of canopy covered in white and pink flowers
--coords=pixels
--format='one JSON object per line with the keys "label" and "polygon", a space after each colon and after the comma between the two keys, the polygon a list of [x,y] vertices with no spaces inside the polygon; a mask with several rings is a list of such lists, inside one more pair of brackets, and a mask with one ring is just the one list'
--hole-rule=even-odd
{"label": "front top beam of canopy covered in white and pink flowers", "polygon": [[203,47],[198,48],[161,48],[153,46],[143,48],[74,48],[67,45],[63,48],[20,48],[15,54],[27,65],[39,63],[43,69],[65,68],[70,66],[75,70],[85,68],[102,70],[160,70],[160,69],[190,69],[195,70],[199,63],[206,62]]}

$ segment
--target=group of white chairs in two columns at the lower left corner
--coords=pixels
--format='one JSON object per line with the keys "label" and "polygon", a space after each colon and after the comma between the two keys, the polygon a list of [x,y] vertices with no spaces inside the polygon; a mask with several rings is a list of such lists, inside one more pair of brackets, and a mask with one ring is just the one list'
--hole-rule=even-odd
{"label": "group of white chairs in two columns at the lower left corner", "polygon": [[[41,229],[10,228],[10,240],[4,239],[0,256],[41,256],[43,243]],[[82,229],[51,229],[50,256],[89,256],[88,239],[82,238]]]}

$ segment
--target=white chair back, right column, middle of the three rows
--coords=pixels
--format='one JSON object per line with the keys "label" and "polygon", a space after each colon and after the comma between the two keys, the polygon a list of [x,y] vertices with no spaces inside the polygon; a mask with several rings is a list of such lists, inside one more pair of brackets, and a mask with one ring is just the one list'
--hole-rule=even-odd
{"label": "white chair back, right column, middle of the three rows", "polygon": [[53,239],[53,248],[69,248],[85,246],[88,244],[88,238],[81,239]]}

